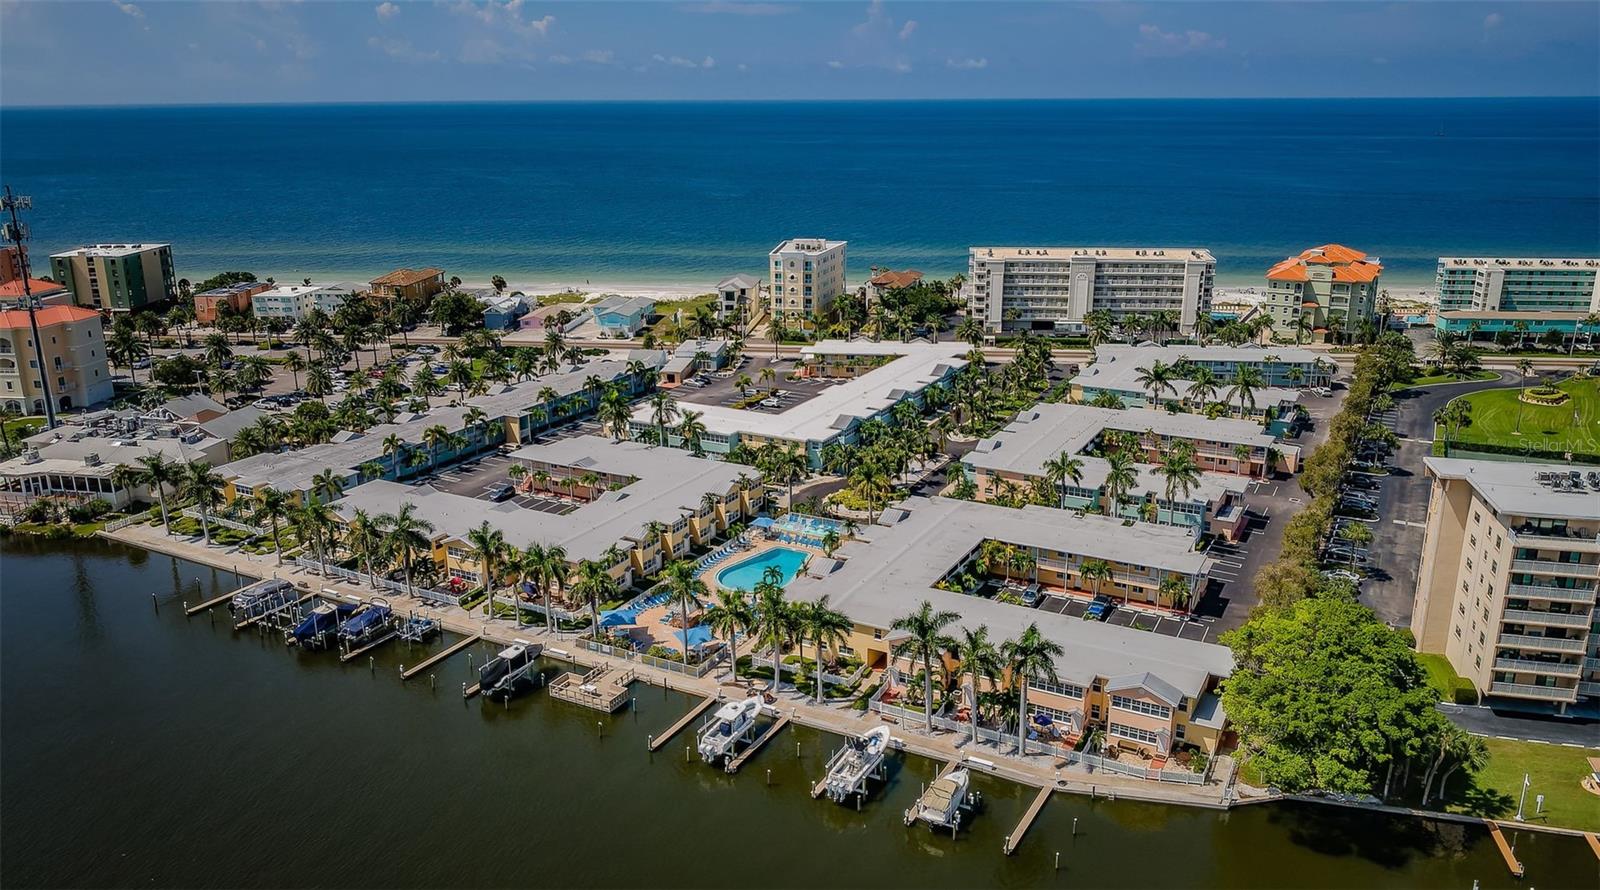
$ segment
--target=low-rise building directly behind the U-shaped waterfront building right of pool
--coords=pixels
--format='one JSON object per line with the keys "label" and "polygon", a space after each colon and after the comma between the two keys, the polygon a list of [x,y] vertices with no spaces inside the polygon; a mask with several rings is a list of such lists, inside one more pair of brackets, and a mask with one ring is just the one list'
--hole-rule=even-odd
{"label": "low-rise building directly behind the U-shaped waterfront building right of pool", "polygon": [[[1118,416],[1130,413],[1134,416]],[[1146,415],[1162,416],[1150,416],[1154,426],[1139,429],[1138,421]],[[1181,423],[1174,423],[1173,418],[1179,418]],[[1218,439],[1184,435],[1211,424],[1218,424],[1219,437],[1238,437],[1243,432],[1230,429],[1229,424],[1237,421],[1211,421],[1198,415],[1042,403],[1019,411],[998,434],[978,442],[962,458],[962,469],[973,480],[981,501],[1016,499],[1019,495],[1026,499],[1030,491],[1043,490],[1051,506],[1154,522],[1182,528],[1194,536],[1210,533],[1234,541],[1245,531],[1245,493],[1250,488],[1248,474],[1238,475],[1234,471],[1264,466],[1267,448],[1277,445],[1262,443],[1262,439],[1270,437],[1246,435],[1251,456],[1258,451],[1261,455],[1258,463],[1230,453],[1232,447]],[[1162,426],[1162,432],[1157,432],[1155,426]],[[1155,463],[1146,463],[1138,467],[1134,485],[1114,499],[1106,483],[1110,464],[1093,453],[1102,443],[1107,429],[1123,429],[1149,439],[1139,453],[1144,461],[1162,459],[1174,442],[1182,440],[1195,447],[1197,466],[1203,459],[1214,467],[1226,467],[1226,472],[1205,469],[1195,485],[1189,490],[1174,488],[1168,498],[1166,479]],[[1202,448],[1205,458],[1200,456]],[[1062,479],[1058,485],[1051,480],[1046,464],[1061,455],[1077,458],[1082,467],[1078,479]]]}

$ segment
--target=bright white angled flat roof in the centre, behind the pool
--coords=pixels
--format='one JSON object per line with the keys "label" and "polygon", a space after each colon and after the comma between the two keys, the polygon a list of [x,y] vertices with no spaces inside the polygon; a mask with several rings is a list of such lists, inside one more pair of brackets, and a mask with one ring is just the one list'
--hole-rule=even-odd
{"label": "bright white angled flat roof in the centre, behind the pool", "polygon": [[[717,435],[749,434],[790,442],[824,442],[850,427],[856,418],[869,418],[894,405],[906,394],[922,392],[939,381],[952,368],[966,367],[963,343],[890,343],[827,341],[814,351],[834,349],[842,354],[859,354],[862,347],[891,347],[883,355],[899,355],[880,368],[832,386],[822,387],[814,397],[787,411],[749,411],[725,405],[701,405],[678,402],[680,410],[701,411],[707,432]],[[634,408],[634,421],[650,424],[648,403]]]}

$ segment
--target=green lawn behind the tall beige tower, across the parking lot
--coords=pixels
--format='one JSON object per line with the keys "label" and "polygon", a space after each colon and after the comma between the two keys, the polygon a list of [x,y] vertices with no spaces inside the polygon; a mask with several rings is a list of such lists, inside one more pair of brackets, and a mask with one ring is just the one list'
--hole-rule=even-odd
{"label": "green lawn behind the tall beige tower, across the parking lot", "polygon": [[[1528,445],[1542,451],[1600,455],[1600,379],[1573,378],[1557,384],[1571,399],[1565,405],[1542,407],[1517,400],[1517,387],[1485,389],[1462,395],[1472,403],[1472,426],[1456,432],[1451,447],[1472,448],[1490,443],[1506,448]],[[1522,435],[1517,416],[1522,411]],[[1443,443],[1443,431],[1434,439]]]}

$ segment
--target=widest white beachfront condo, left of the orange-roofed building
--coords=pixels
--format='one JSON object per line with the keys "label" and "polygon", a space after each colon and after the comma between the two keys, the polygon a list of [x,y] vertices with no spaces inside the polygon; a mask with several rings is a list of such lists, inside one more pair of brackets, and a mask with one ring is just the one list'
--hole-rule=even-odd
{"label": "widest white beachfront condo, left of the orange-roofed building", "polygon": [[1083,333],[1090,312],[1176,312],[1184,330],[1211,307],[1216,259],[1202,248],[974,247],[968,315],[990,335]]}

